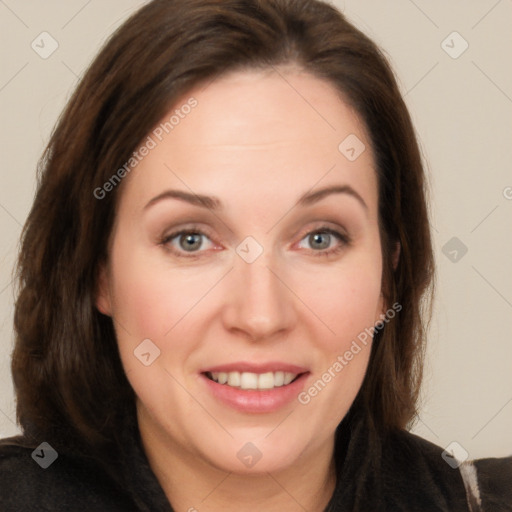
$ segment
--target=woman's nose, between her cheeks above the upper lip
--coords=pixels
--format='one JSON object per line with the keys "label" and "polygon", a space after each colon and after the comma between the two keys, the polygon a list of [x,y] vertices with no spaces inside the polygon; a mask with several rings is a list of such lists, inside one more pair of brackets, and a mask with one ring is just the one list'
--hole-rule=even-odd
{"label": "woman's nose, between her cheeks above the upper lip", "polygon": [[295,296],[286,281],[265,252],[252,263],[236,256],[223,308],[225,328],[252,341],[289,331],[296,321]]}

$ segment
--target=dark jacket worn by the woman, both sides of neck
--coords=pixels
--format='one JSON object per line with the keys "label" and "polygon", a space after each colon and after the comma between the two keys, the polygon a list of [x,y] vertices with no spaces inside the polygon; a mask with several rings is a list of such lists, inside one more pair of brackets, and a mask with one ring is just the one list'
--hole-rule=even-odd
{"label": "dark jacket worn by the woman, both sides of neck", "polygon": [[[66,453],[44,469],[55,456],[47,445],[34,449],[21,446],[20,437],[4,439],[0,511],[172,512],[138,428],[127,432],[119,482],[93,460]],[[406,431],[372,444],[364,421],[340,424],[335,457],[337,485],[326,512],[512,511],[512,457],[459,466],[442,448]],[[290,510],[296,508],[291,502]]]}

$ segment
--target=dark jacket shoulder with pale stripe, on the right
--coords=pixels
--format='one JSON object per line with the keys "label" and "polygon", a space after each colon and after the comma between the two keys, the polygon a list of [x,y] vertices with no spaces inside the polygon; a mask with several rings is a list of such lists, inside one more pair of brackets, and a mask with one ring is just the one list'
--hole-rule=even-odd
{"label": "dark jacket shoulder with pale stripe, on the right", "polygon": [[[405,430],[383,445],[389,488],[425,510],[512,511],[512,457],[460,463],[440,446]],[[474,499],[476,498],[476,500]]]}

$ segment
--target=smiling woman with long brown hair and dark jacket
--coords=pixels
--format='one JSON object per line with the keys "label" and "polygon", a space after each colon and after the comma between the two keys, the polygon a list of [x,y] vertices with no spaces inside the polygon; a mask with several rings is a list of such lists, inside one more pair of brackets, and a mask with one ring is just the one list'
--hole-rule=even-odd
{"label": "smiling woman with long brown hair and dark jacket", "polygon": [[423,169],[389,65],[333,7],[150,2],[41,170],[2,510],[507,510],[486,479],[510,461],[405,430]]}

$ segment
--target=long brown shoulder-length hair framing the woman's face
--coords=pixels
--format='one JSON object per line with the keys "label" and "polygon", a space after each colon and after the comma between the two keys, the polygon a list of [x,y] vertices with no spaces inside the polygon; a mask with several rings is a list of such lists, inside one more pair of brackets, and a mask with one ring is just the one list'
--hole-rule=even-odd
{"label": "long brown shoulder-length hair framing the woman's face", "polygon": [[332,83],[369,133],[383,290],[387,304],[402,309],[375,335],[354,406],[383,431],[413,419],[434,265],[418,143],[385,57],[338,10],[316,0],[154,0],[91,64],[39,163],[14,316],[12,373],[26,436],[99,458],[121,449],[118,433],[135,396],[95,293],[122,183],[101,199],[94,191],[193,86],[227,71],[284,64]]}

